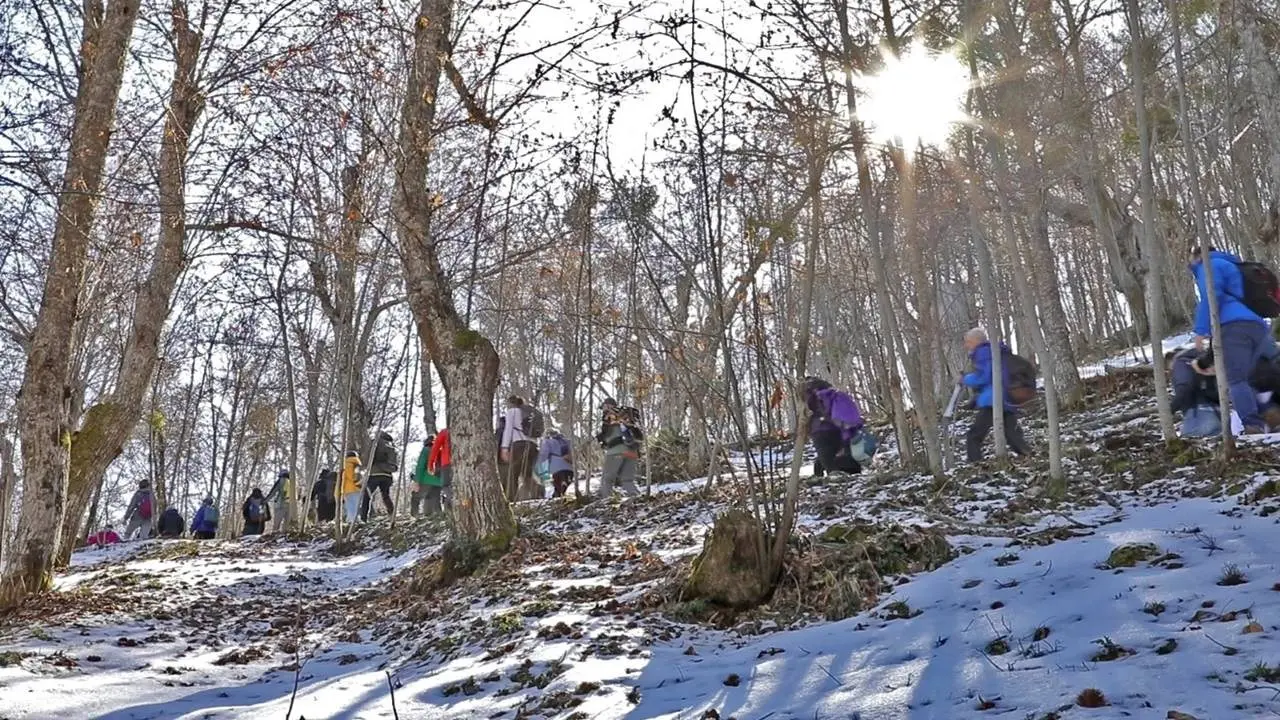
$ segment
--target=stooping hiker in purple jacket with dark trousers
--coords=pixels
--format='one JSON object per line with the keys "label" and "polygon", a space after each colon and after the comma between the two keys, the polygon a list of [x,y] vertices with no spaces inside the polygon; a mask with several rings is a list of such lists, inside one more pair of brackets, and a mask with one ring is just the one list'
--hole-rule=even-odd
{"label": "stooping hiker in purple jacket with dark trousers", "polygon": [[805,379],[804,401],[809,409],[809,438],[818,452],[814,474],[819,468],[819,477],[861,473],[863,461],[870,460],[869,455],[864,455],[867,438],[870,436],[863,432],[863,414],[858,402],[849,393],[814,377]]}

